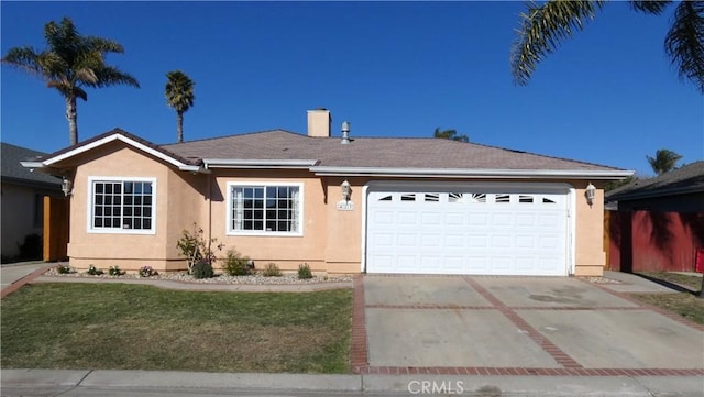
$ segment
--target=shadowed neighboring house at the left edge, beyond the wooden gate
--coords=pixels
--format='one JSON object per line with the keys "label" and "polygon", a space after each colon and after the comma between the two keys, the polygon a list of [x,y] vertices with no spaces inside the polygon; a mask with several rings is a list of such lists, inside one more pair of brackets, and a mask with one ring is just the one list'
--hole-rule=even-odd
{"label": "shadowed neighboring house at the left edge, beyond the wooden gate", "polygon": [[[2,258],[7,262],[21,258],[18,257],[21,254],[20,246],[25,243],[28,236],[42,234],[43,197],[63,196],[63,192],[61,179],[32,172],[20,164],[46,153],[9,143],[1,145]],[[34,243],[33,239],[30,239]],[[40,257],[41,254],[40,251]]]}

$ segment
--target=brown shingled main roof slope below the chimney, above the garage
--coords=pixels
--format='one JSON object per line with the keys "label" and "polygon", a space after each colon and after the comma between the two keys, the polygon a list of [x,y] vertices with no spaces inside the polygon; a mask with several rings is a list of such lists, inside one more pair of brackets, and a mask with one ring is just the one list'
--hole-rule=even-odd
{"label": "brown shingled main roof slope below the chimney, above the garage", "polygon": [[185,158],[310,159],[318,166],[433,169],[620,170],[585,162],[442,139],[309,137],[274,130],[162,145]]}

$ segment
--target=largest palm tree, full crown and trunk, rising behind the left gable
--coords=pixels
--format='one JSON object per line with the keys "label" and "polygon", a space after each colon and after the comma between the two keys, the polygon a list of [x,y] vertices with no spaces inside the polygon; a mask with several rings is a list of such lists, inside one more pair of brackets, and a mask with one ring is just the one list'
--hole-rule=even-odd
{"label": "largest palm tree, full crown and trunk, rising behind the left gable", "polygon": [[36,75],[55,88],[66,100],[66,119],[70,144],[78,142],[78,111],[76,98],[88,100],[85,87],[102,88],[128,85],[139,88],[131,75],[106,65],[109,53],[124,53],[120,43],[95,36],[82,36],[74,22],[64,18],[61,24],[44,25],[47,48],[37,53],[30,46],[10,48],[2,64]]}

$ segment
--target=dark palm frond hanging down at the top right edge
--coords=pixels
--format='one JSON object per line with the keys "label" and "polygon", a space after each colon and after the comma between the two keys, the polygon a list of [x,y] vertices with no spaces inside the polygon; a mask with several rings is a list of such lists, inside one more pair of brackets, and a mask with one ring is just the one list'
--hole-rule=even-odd
{"label": "dark palm frond hanging down at the top right edge", "polygon": [[676,7],[664,48],[680,78],[704,93],[704,1],[682,1]]}

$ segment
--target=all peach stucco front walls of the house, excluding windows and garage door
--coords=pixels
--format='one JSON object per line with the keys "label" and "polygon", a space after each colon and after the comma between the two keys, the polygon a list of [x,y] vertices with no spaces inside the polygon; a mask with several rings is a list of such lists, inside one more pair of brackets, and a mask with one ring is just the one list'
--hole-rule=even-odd
{"label": "all peach stucco front walls of the house, excluding windows and garage door", "polygon": [[[92,151],[90,155],[77,156],[73,162],[82,163],[74,183],[68,247],[72,265],[78,268],[95,264],[101,268],[118,265],[128,271],[136,271],[144,265],[160,271],[183,269],[186,264],[178,254],[176,242],[182,230],[190,229],[197,222],[206,231],[206,236],[215,238],[226,246],[219,253],[221,261],[216,266],[222,265],[227,251],[234,249],[254,260],[257,268],[273,262],[283,271],[295,271],[301,263],[308,263],[315,272],[361,272],[363,192],[370,178],[346,178],[352,185],[354,210],[340,211],[337,203],[341,199],[340,184],[345,178],[320,178],[308,170],[213,169],[209,175],[194,175],[121,143],[106,145]],[[156,233],[143,235],[87,232],[89,176],[156,178]],[[302,184],[302,235],[229,235],[228,183]],[[584,199],[585,181],[563,183],[576,189],[573,236],[575,274],[601,275],[605,261],[602,244],[603,191],[597,191],[595,203],[590,207]]]}

